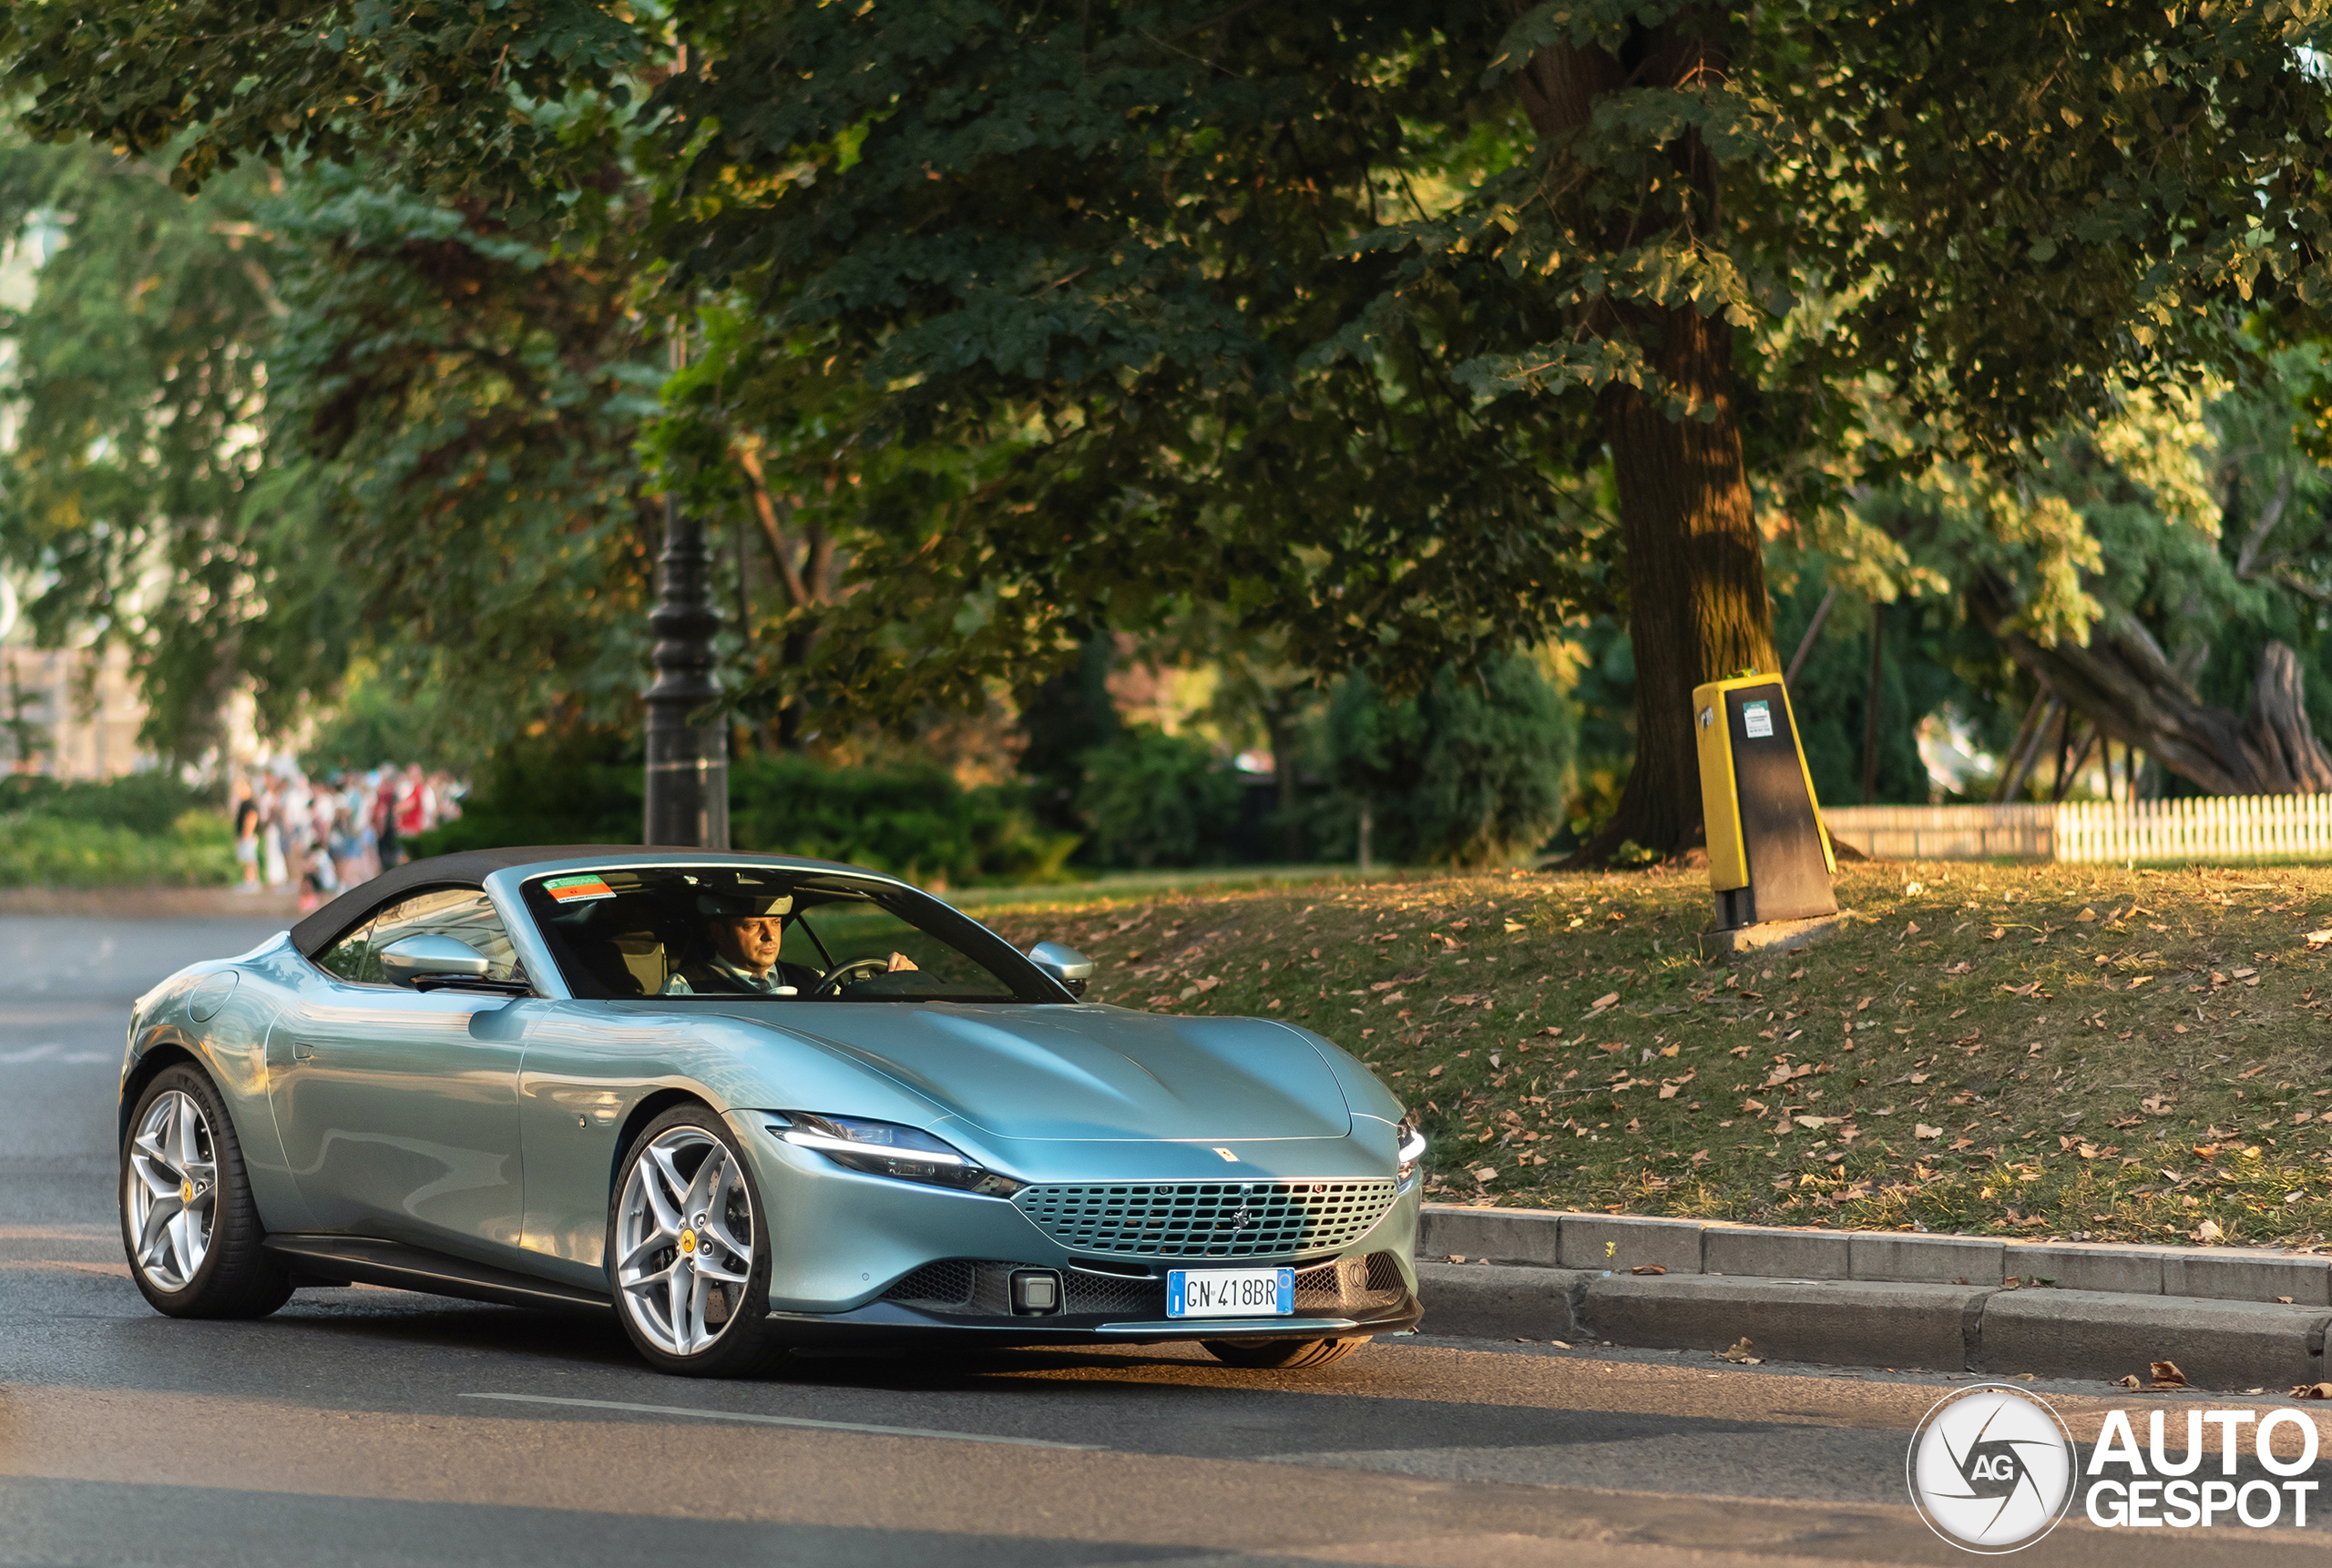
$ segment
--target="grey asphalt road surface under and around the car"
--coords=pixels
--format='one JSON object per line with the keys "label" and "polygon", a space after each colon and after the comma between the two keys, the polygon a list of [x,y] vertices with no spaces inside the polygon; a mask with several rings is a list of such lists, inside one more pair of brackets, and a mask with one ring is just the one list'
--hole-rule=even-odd
{"label": "grey asphalt road surface under and around the car", "polygon": [[[128,1002],[271,930],[0,918],[0,1563],[1968,1561],[1903,1491],[1943,1377],[1420,1337],[1308,1375],[1124,1349],[798,1356],[704,1384],[646,1372],[613,1321],[394,1291],[156,1316],[112,1214]],[[2143,1440],[2152,1396],[2034,1389],[2082,1440],[2141,1407]],[[2332,1493],[2332,1461],[2313,1475]],[[2075,1512],[2022,1561],[2327,1542]]]}

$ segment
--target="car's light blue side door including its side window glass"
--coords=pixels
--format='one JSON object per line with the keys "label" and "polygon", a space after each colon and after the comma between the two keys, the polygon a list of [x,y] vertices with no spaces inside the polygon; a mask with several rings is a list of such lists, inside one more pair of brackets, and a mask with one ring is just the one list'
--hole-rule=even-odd
{"label": "car's light blue side door including its side window glass", "polygon": [[322,1230],[501,1260],[520,1251],[518,1065],[529,997],[408,990],[380,951],[457,937],[515,974],[511,937],[476,888],[413,892],[310,965],[268,1034],[268,1097]]}

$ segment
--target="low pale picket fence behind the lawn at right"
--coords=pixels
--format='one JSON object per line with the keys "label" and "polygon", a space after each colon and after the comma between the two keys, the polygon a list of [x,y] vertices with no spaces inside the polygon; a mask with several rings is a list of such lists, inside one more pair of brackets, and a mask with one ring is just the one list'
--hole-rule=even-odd
{"label": "low pale picket fence behind the lawn at right", "polygon": [[2061,806],[1826,806],[1840,843],[1877,860],[2332,857],[2332,794]]}

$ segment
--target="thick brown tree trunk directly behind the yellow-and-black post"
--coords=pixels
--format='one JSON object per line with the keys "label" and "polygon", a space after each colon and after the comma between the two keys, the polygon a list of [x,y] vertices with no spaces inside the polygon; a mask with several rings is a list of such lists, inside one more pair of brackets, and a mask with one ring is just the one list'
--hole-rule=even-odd
{"label": "thick brown tree trunk directly behind the yellow-and-black post", "polygon": [[[1520,5],[1523,0],[1516,0]],[[1604,49],[1541,49],[1516,75],[1539,140],[1588,123],[1595,100],[1621,86],[1719,82],[1728,61],[1698,37],[1691,16],[1639,30],[1632,70]],[[1716,161],[1698,133],[1667,147],[1670,161],[1716,205]],[[1733,412],[1733,329],[1698,310],[1602,305],[1604,326],[1644,347],[1646,363],[1695,417],[1672,419],[1635,387],[1602,394],[1604,438],[1618,485],[1628,550],[1628,641],[1635,648],[1635,767],[1618,813],[1574,864],[1600,864],[1635,841],[1663,855],[1702,839],[1693,687],[1744,669],[1779,673],[1763,538],[1749,506]]]}

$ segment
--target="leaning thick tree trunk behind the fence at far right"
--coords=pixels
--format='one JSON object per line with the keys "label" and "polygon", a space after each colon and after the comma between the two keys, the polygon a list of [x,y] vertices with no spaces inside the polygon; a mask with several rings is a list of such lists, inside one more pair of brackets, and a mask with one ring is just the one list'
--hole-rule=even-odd
{"label": "leaning thick tree trunk behind the fence at far right", "polygon": [[2299,657],[2283,643],[2260,652],[2250,713],[2211,708],[2127,610],[2106,610],[2085,645],[2043,648],[2010,629],[2015,594],[1999,580],[1968,585],[1968,613],[2099,734],[2211,794],[2325,794],[2332,755],[2309,727]]}

